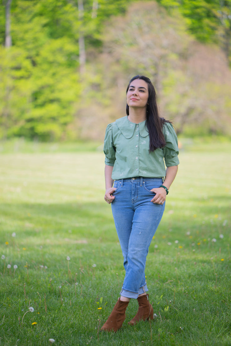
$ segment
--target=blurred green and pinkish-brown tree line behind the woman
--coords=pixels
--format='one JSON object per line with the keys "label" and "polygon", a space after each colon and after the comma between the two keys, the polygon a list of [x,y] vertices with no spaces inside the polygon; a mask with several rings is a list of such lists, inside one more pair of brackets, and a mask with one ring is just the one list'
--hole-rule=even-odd
{"label": "blurred green and pinkish-brown tree line behind the woman", "polygon": [[137,73],[178,133],[230,134],[231,0],[2,0],[0,138],[103,139]]}

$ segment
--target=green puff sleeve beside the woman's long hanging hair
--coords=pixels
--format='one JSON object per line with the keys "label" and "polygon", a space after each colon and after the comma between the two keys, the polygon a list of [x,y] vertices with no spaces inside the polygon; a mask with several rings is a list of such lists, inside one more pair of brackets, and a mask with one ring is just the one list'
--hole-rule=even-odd
{"label": "green puff sleeve beside the woman's long hanging hair", "polygon": [[163,148],[165,165],[166,167],[177,166],[179,164],[178,141],[173,125],[170,122],[165,122],[163,126],[163,134],[166,142],[166,145]]}

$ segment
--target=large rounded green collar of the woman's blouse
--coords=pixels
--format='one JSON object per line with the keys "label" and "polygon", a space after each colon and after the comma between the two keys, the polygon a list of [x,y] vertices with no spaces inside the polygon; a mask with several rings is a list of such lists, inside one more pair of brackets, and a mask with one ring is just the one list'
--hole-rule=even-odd
{"label": "large rounded green collar of the woman's blouse", "polygon": [[[135,122],[129,121],[127,116],[115,120],[115,123],[125,138],[128,139],[128,138],[131,138],[133,136],[133,133],[135,131],[137,124],[135,124]],[[139,125],[140,136],[141,137],[147,137],[148,136],[148,129],[146,126],[146,120],[139,122],[138,125]]]}

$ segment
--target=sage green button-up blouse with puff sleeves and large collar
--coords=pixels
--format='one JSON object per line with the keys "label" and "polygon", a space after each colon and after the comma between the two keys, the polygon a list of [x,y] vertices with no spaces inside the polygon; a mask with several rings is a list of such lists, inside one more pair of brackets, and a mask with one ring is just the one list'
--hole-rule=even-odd
{"label": "sage green button-up blouse with puff sleeves and large collar", "polygon": [[172,124],[163,126],[166,145],[149,153],[149,133],[146,120],[135,124],[128,117],[107,126],[104,139],[105,164],[114,166],[112,179],[136,176],[162,178],[166,167],[177,166],[178,142]]}

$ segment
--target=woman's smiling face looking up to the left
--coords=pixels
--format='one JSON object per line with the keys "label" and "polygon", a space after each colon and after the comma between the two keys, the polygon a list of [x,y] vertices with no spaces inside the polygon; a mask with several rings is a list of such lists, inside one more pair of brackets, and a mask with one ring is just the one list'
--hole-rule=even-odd
{"label": "woman's smiling face looking up to the left", "polygon": [[146,108],[148,103],[148,84],[142,79],[135,79],[129,85],[127,104],[129,107]]}

